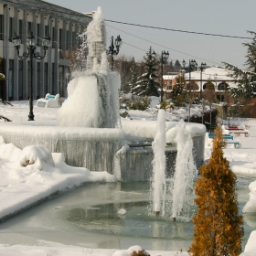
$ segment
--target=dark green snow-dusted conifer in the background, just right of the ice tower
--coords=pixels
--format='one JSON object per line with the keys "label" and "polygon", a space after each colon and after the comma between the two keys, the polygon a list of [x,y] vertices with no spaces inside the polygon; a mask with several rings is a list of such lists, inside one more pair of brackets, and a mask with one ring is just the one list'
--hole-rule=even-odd
{"label": "dark green snow-dusted conifer in the background, just right of the ice tower", "polygon": [[132,93],[133,95],[138,96],[159,96],[158,88],[160,88],[160,84],[155,80],[157,78],[155,71],[157,70],[156,67],[158,65],[158,61],[153,58],[151,47],[146,53],[143,63],[146,72],[139,77],[136,87],[133,88]]}

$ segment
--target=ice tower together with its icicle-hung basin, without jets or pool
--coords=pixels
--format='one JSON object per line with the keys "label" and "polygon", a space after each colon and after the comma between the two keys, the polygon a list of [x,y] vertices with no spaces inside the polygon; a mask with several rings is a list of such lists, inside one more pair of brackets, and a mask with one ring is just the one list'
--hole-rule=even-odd
{"label": "ice tower together with its icicle-hung basin, without jets or pool", "polygon": [[[89,55],[85,68],[73,72],[68,99],[59,109],[57,121],[2,123],[5,143],[23,149],[42,144],[51,152],[62,153],[65,162],[85,166],[91,171],[107,171],[118,179],[149,180],[152,176],[155,121],[123,119],[119,115],[120,75],[109,69],[106,31],[101,8],[86,31]],[[193,141],[197,166],[204,160],[205,127],[187,124]],[[165,134],[164,134],[165,133]],[[176,161],[176,123],[165,125],[165,165],[167,176],[174,173]]]}

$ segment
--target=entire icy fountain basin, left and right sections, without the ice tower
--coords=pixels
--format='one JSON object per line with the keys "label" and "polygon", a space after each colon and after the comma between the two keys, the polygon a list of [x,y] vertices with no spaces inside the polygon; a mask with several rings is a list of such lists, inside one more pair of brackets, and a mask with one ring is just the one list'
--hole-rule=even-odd
{"label": "entire icy fountain basin, left and right sections, without the ice tower", "polygon": [[[68,165],[86,167],[91,171],[120,172],[123,181],[149,180],[152,176],[152,161],[154,153],[151,146],[130,147],[122,151],[123,144],[151,143],[155,134],[155,122],[123,122],[119,128],[88,128],[62,127],[56,121],[35,121],[2,123],[0,134],[5,143],[15,144],[23,149],[27,145],[42,144],[52,153],[62,153]],[[143,124],[143,125],[142,125]],[[166,125],[166,136],[172,146],[166,146],[166,174],[171,175],[175,170],[176,144],[172,136],[176,123]],[[189,124],[197,127],[200,124]],[[133,127],[133,133],[131,128]],[[147,127],[150,133],[145,130]],[[154,128],[154,129],[153,129]],[[144,131],[144,133],[142,133]],[[139,134],[138,134],[139,133]],[[138,136],[140,135],[140,136]],[[144,135],[144,137],[142,137]],[[204,161],[205,133],[192,133],[194,160],[197,168]],[[117,154],[118,153],[118,154]]]}

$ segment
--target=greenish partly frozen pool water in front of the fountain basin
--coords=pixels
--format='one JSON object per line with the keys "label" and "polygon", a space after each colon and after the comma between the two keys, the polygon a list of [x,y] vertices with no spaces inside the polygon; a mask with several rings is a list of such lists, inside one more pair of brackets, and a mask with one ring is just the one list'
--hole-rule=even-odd
{"label": "greenish partly frozen pool water in front of the fountain basin", "polygon": [[[240,214],[252,180],[239,177]],[[102,249],[138,244],[145,250],[186,251],[193,235],[192,222],[149,216],[149,189],[147,182],[86,184],[1,223],[1,243]],[[118,214],[122,208],[125,215]],[[245,215],[245,220],[243,246],[256,227],[256,216]]]}

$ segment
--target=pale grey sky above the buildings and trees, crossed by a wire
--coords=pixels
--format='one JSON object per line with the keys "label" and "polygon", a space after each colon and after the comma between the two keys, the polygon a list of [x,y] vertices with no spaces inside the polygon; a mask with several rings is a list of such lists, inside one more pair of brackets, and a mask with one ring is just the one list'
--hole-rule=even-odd
{"label": "pale grey sky above the buildings and trees, crossed by a wire", "polygon": [[[178,30],[251,37],[256,31],[255,0],[47,0],[81,13],[101,6],[104,19]],[[150,46],[156,53],[168,50],[169,61],[196,59],[197,64],[221,66],[221,61],[244,67],[250,39],[211,37],[106,22],[108,37],[120,35],[120,55],[142,60]]]}

